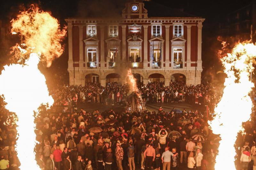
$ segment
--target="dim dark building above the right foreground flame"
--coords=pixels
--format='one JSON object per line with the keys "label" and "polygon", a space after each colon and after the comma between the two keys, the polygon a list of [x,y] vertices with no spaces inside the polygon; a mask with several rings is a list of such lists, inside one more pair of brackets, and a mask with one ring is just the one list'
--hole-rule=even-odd
{"label": "dim dark building above the right foreground flame", "polygon": [[222,16],[220,22],[220,32],[223,38],[232,40],[230,43],[237,41],[252,40],[256,41],[256,1],[239,8],[236,11]]}

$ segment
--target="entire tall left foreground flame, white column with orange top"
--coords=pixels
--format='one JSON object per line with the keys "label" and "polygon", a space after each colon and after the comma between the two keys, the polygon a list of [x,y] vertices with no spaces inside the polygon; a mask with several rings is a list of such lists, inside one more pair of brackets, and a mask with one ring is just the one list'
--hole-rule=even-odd
{"label": "entire tall left foreground flame, white column with orange top", "polygon": [[[58,20],[50,13],[39,11],[31,6],[28,11],[20,12],[12,20],[12,33],[19,33],[25,44],[17,45],[16,57],[27,56],[25,64],[4,66],[0,75],[0,94],[4,95],[9,111],[18,116],[16,151],[20,169],[40,169],[35,160],[35,123],[34,111],[43,103],[52,106],[54,100],[49,96],[44,75],[38,70],[40,59],[50,66],[63,49],[60,41],[66,31],[60,31]],[[25,47],[25,48],[23,48]],[[26,147],[25,147],[26,146]]]}

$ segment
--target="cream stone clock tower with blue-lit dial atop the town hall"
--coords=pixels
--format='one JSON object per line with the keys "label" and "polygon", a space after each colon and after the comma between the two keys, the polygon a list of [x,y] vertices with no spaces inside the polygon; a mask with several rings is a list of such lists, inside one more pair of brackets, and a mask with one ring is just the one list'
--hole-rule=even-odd
{"label": "cream stone clock tower with blue-lit dial atop the town hall", "polygon": [[122,18],[148,18],[148,10],[144,8],[143,0],[127,1]]}

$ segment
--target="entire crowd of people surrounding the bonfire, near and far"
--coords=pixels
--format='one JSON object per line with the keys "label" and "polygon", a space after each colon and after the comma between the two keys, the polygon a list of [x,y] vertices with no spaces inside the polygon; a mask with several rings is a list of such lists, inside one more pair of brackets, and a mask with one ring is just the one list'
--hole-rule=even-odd
{"label": "entire crowd of people surrounding the bonfire, near and far", "polygon": [[[182,93],[178,100],[175,98],[176,91],[179,95]],[[218,102],[219,94],[212,94],[213,91],[210,84],[187,86],[172,83],[165,87],[163,83],[150,83],[140,86],[145,102],[186,101],[196,104],[197,101],[198,105]],[[106,87],[94,83],[61,86],[51,91],[55,105],[83,103],[83,97],[88,93],[91,93],[95,103],[124,104],[123,99],[129,95],[129,88],[117,83],[107,84]],[[157,93],[161,98],[157,96],[155,100]],[[201,94],[201,98],[197,99],[196,94]],[[255,103],[254,92],[252,99]],[[36,138],[39,141],[36,145],[37,163],[42,170],[213,170],[220,137],[208,128],[204,112],[183,109],[177,113],[176,110],[159,107],[158,112],[129,113],[110,109],[89,113],[80,109],[57,115],[51,110],[44,111],[36,118]],[[12,167],[19,166],[14,150],[16,125],[6,126],[7,113],[3,108],[1,114],[0,169],[8,169],[9,163]],[[247,169],[252,163],[256,169],[255,124],[254,113],[251,121],[244,123],[245,135],[238,135],[235,146],[238,168]]]}

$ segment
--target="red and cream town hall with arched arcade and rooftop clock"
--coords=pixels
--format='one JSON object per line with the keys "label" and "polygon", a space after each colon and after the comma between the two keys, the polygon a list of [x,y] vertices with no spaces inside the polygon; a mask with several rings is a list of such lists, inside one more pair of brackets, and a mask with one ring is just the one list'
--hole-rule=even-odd
{"label": "red and cream town hall with arched arcade and rooftop clock", "polygon": [[132,68],[144,84],[199,84],[204,20],[142,0],[128,1],[120,17],[68,18],[69,83],[124,83]]}

